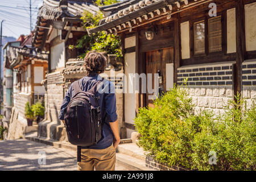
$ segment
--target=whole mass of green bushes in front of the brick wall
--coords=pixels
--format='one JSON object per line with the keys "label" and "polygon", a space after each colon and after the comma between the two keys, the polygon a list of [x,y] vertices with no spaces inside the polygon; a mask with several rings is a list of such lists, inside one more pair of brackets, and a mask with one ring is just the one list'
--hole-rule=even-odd
{"label": "whole mass of green bushes in front of the brick wall", "polygon": [[[239,98],[240,99],[240,98]],[[142,108],[135,118],[144,150],[170,166],[199,170],[255,169],[255,108],[241,111],[242,102],[230,102],[220,117],[203,111],[193,114],[186,88],[175,86]],[[212,152],[216,165],[209,164]]]}

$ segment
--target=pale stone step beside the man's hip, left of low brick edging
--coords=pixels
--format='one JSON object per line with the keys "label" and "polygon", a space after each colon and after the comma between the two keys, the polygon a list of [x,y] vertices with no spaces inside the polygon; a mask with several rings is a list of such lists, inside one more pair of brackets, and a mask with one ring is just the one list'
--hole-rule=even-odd
{"label": "pale stone step beside the man's hip, left of low brick edging", "polygon": [[145,160],[134,158],[133,156],[117,153],[117,162],[123,166],[127,166],[134,171],[155,171],[154,169],[146,167]]}

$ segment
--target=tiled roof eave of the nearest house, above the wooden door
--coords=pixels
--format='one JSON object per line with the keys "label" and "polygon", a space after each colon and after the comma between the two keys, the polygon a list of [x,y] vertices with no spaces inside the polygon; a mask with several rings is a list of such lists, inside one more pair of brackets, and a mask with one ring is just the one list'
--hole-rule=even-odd
{"label": "tiled roof eave of the nearest house, above the wooden door", "polygon": [[101,20],[98,27],[87,31],[92,34],[105,30],[111,34],[138,26],[138,24],[158,16],[166,15],[170,19],[171,14],[175,11],[205,2],[206,0],[126,0],[114,5],[100,7],[106,18]]}

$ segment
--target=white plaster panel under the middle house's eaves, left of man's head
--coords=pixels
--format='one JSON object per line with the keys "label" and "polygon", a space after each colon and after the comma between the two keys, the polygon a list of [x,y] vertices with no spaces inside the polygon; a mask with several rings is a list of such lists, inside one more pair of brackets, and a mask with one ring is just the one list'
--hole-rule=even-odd
{"label": "white plaster panel under the middle house's eaves, left of man's head", "polygon": [[65,67],[65,43],[51,47],[51,69]]}

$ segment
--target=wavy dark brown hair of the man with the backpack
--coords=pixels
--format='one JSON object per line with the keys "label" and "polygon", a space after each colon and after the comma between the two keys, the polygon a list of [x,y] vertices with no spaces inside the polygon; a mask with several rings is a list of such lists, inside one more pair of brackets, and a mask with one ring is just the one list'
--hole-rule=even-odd
{"label": "wavy dark brown hair of the man with the backpack", "polygon": [[84,66],[87,72],[87,76],[91,73],[103,73],[107,64],[107,58],[104,53],[90,51],[84,58]]}

